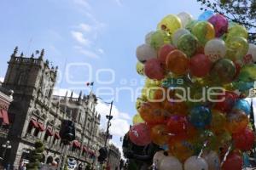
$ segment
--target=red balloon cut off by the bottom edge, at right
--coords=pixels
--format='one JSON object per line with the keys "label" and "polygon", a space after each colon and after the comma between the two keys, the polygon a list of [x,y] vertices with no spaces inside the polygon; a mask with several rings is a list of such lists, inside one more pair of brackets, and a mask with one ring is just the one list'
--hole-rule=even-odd
{"label": "red balloon cut off by the bottom edge, at right", "polygon": [[224,161],[224,164],[222,166],[222,170],[241,170],[242,168],[242,158],[241,156],[236,153],[230,153],[229,156],[227,156],[226,161]]}

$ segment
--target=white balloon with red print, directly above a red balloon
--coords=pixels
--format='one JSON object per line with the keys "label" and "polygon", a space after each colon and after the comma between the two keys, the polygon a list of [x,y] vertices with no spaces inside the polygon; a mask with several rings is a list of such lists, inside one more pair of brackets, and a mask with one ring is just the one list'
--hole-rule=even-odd
{"label": "white balloon with red print, directly above a red balloon", "polygon": [[205,54],[212,60],[212,62],[223,58],[226,52],[227,48],[225,42],[218,38],[208,41],[205,46]]}

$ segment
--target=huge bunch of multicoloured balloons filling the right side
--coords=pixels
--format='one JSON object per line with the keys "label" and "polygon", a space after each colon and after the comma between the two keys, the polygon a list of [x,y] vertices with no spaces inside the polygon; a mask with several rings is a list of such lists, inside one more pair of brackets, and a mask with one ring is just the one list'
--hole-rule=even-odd
{"label": "huge bunch of multicoloured balloons filling the right side", "polygon": [[240,170],[253,149],[247,101],[256,80],[256,45],[222,14],[169,14],[137,47],[145,77],[129,132],[134,144],[159,144],[160,170]]}

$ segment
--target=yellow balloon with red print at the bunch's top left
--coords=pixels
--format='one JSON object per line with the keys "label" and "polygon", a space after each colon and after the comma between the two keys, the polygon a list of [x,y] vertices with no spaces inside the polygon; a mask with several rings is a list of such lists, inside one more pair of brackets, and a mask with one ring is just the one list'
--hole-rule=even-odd
{"label": "yellow balloon with red print at the bunch's top left", "polygon": [[176,15],[169,14],[160,21],[157,27],[160,30],[168,31],[172,36],[177,29],[182,27],[182,22]]}

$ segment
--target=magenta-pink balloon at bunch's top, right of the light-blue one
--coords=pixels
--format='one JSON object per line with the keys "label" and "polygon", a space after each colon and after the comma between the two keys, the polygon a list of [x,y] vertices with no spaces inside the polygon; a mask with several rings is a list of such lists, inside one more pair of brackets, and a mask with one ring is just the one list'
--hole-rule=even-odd
{"label": "magenta-pink balloon at bunch's top, right of the light-blue one", "polygon": [[222,14],[214,14],[208,20],[215,29],[215,37],[221,37],[228,31],[229,21]]}

